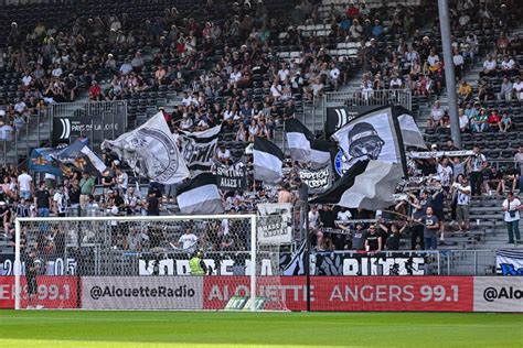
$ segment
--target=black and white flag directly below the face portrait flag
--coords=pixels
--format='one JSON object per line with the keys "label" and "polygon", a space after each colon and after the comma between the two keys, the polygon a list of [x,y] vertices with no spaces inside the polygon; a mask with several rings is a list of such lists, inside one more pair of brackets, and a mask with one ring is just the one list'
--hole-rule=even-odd
{"label": "black and white flag directly below the face portrait flag", "polygon": [[401,163],[359,161],[330,189],[311,203],[367,210],[383,209],[395,204],[394,192],[402,177]]}

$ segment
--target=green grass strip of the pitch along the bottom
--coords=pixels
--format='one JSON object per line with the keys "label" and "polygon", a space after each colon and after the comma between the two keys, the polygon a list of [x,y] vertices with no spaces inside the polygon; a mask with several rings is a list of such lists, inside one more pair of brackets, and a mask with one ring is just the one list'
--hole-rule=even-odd
{"label": "green grass strip of the pitch along the bottom", "polygon": [[523,347],[523,315],[0,311],[0,347]]}

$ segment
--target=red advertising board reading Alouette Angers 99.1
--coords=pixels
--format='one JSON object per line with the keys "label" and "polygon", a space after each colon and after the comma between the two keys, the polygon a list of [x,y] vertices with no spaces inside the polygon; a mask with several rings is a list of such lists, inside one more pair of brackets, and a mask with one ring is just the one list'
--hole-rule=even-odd
{"label": "red advertising board reading Alouette Angers 99.1", "polygon": [[[221,309],[231,296],[248,296],[248,276],[204,279],[206,309]],[[305,276],[260,276],[257,294],[266,309],[306,309]],[[311,276],[312,311],[471,312],[472,276]]]}

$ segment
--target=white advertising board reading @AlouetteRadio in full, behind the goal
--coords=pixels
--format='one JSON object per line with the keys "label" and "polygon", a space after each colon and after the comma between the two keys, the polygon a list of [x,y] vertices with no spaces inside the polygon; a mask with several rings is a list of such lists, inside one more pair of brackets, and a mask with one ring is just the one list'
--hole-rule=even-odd
{"label": "white advertising board reading @AlouetteRadio in full, behind the goal", "polygon": [[202,309],[202,276],[83,276],[84,309]]}

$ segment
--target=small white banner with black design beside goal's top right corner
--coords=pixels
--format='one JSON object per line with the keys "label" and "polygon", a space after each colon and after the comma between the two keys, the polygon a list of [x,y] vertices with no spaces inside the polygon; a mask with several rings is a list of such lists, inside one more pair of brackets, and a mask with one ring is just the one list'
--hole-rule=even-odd
{"label": "small white banner with black design beside goal's top right corner", "polygon": [[259,243],[290,243],[292,238],[292,205],[290,203],[258,204],[258,216]]}

